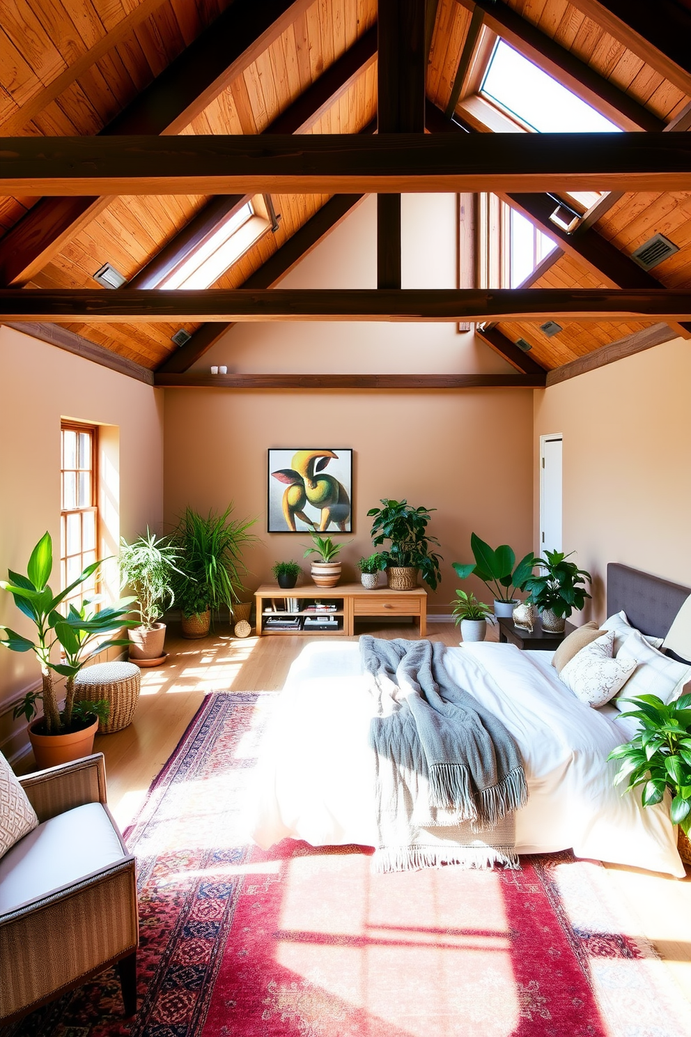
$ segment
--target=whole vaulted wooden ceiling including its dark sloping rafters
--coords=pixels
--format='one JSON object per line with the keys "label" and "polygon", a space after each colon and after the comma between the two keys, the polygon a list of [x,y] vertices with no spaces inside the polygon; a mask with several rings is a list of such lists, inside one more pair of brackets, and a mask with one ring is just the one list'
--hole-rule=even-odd
{"label": "whole vaulted wooden ceiling including its dark sloping rafters", "polygon": [[[623,129],[685,132],[691,124],[691,72],[674,50],[680,30],[673,19],[686,18],[689,26],[691,19],[681,2],[660,3],[656,18],[649,11],[645,21],[642,0],[428,0],[427,130],[489,132],[478,116],[477,68],[499,34]],[[3,7],[0,132],[371,133],[377,116],[376,21],[376,0],[22,0]],[[270,287],[357,200],[273,194],[278,229],[215,287]],[[559,245],[531,279],[532,287],[691,287],[691,191],[611,192],[573,234],[549,222],[553,204],[547,196],[513,194],[506,200]],[[264,209],[262,196],[255,202]],[[132,285],[153,287],[170,256],[208,230],[219,207],[227,212],[228,204],[206,195],[0,198],[0,283],[94,288],[93,274],[108,261]],[[680,251],[646,274],[629,257],[656,232]],[[482,334],[524,372],[567,370],[565,365],[613,342],[650,344],[680,331],[689,334],[679,324],[617,318],[565,321],[564,331],[548,338],[539,325],[549,316],[499,320]],[[79,343],[80,336],[169,373],[184,370],[223,330],[188,321],[192,342],[177,349],[171,336],[180,323],[60,327],[62,332],[54,328],[47,337],[57,341],[62,334],[64,342],[71,335]],[[519,338],[532,346],[529,355],[514,346]]]}

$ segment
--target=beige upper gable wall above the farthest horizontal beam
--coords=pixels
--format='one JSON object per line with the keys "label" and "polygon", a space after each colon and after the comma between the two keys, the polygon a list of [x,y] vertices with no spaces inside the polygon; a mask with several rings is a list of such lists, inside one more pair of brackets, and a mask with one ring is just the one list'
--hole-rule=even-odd
{"label": "beige upper gable wall above the farthest horizontal beam", "polygon": [[[376,199],[357,208],[281,282],[282,288],[375,288]],[[456,196],[403,195],[404,288],[456,287]],[[502,373],[514,369],[455,324],[237,324],[195,364],[235,373]]]}

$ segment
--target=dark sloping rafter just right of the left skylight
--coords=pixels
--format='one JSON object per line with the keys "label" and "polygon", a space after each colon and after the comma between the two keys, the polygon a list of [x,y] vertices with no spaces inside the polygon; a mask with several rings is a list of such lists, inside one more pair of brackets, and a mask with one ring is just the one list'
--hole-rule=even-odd
{"label": "dark sloping rafter just right of the left skylight", "polygon": [[[243,284],[246,289],[270,288],[323,241],[352,212],[363,195],[335,195],[281,246]],[[204,324],[189,342],[160,365],[162,373],[180,374],[210,349],[232,324]]]}

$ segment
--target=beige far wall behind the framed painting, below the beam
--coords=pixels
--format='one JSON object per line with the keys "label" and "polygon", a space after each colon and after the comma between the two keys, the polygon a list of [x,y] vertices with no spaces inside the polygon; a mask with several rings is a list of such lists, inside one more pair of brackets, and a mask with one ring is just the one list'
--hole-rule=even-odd
{"label": "beige far wall behind the framed painting, below the beam", "polygon": [[[469,561],[471,530],[492,543],[529,550],[532,521],[530,390],[463,392],[166,392],[166,518],[235,502],[256,516],[263,543],[248,554],[255,589],[277,560],[301,563],[306,534],[266,530],[268,447],[352,447],[352,542],[342,553],[346,579],[372,551],[367,511],[381,497],[437,508],[430,527],[441,541],[443,582],[430,611],[449,613]],[[346,536],[343,539],[351,539]],[[306,571],[308,563],[306,564]],[[487,592],[482,585],[476,587]]]}

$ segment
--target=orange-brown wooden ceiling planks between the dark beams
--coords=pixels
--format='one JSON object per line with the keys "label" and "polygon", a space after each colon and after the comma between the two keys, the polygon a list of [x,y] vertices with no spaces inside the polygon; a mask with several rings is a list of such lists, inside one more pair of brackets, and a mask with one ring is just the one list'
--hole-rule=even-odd
{"label": "orange-brown wooden ceiling planks between the dark beams", "polygon": [[[496,6],[501,3],[499,0]],[[513,11],[543,34],[554,47],[557,61],[562,53],[578,59],[589,69],[591,79],[595,74],[596,83],[599,79],[616,88],[614,97],[616,91],[626,94],[634,111],[639,106],[665,125],[683,117],[689,104],[689,94],[682,88],[684,77],[680,74],[671,82],[664,68],[661,71],[663,63],[646,62],[644,48],[630,49],[598,24],[587,12],[592,0],[581,0],[586,12],[578,3],[506,0],[503,6],[511,9],[508,17]],[[234,4],[239,9],[240,0]],[[7,136],[89,136],[103,132],[232,6],[230,0],[24,0],[21,5],[8,5],[0,28],[0,132]],[[439,0],[427,69],[427,97],[437,114],[450,107],[454,96],[455,110],[462,119],[467,115],[467,97],[478,88],[472,79],[473,60],[477,63],[486,55],[494,39],[487,28],[468,39],[468,32],[477,33],[480,26],[476,18],[471,30],[471,7],[472,0]],[[289,13],[295,17],[283,31],[178,132],[270,131],[280,116],[294,111],[298,100],[324,72],[372,30],[377,2],[315,0],[293,4]],[[470,60],[460,77],[464,49]],[[308,119],[298,132],[362,133],[376,117],[376,61],[371,60],[364,62],[337,91],[333,103],[322,104],[316,118]],[[628,123],[626,128],[631,129]],[[687,129],[683,121],[680,129]],[[105,262],[132,279],[209,200],[205,196],[110,199],[74,233],[56,236],[55,247],[46,253],[46,261],[33,272],[26,287],[94,288],[93,274]],[[256,278],[263,264],[327,201],[327,195],[275,195],[273,207],[281,217],[278,229],[261,237],[214,286],[237,288]],[[35,198],[1,198],[0,239],[37,202]],[[255,202],[262,212],[263,199],[258,197]],[[604,240],[624,256],[630,256],[656,232],[670,237],[680,252],[655,269],[655,279],[665,287],[691,286],[691,193],[624,194],[588,231],[598,235],[596,245]],[[578,235],[573,242],[558,244],[564,252],[543,270],[535,287],[636,286],[634,282],[622,283],[611,270],[603,273],[594,265],[594,253],[583,251]],[[548,338],[539,330],[540,323],[542,319],[501,321],[495,331],[511,343],[518,338],[527,340],[532,345],[530,356],[547,370],[577,361],[651,324],[569,321],[563,332]],[[68,331],[149,369],[161,367],[175,353],[171,335],[179,327],[159,323],[64,325]],[[183,327],[194,333],[199,325]]]}

